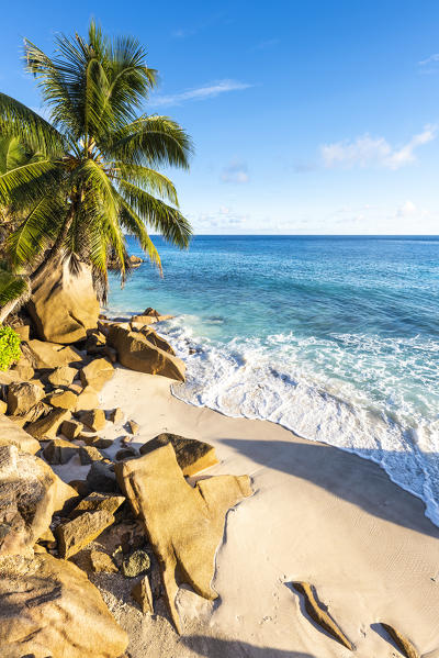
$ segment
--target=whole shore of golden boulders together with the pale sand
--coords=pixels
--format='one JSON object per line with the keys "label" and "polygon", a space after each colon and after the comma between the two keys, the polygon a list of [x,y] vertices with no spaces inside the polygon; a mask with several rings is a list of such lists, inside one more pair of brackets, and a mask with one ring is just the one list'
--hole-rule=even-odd
{"label": "whole shore of golden boulders together with the pale sand", "polygon": [[173,398],[184,363],[153,328],[168,317],[58,323],[63,344],[14,325],[2,658],[435,658],[421,502],[354,455]]}

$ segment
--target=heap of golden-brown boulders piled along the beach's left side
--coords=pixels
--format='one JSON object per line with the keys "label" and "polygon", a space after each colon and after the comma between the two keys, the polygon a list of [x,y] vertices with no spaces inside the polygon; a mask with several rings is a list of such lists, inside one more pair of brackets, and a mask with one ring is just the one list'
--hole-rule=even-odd
{"label": "heap of golden-brown boulders piled along the beach's left side", "polygon": [[[115,367],[184,381],[183,361],[151,330],[166,317],[154,309],[130,323],[101,315],[75,345],[19,328],[22,358],[0,373],[4,657],[128,656],[128,636],[91,582],[98,575],[128,588],[143,614],[161,605],[178,632],[182,582],[207,600],[216,596],[215,551],[227,510],[251,494],[248,476],[191,487],[189,476],[217,462],[211,445],[161,433],[133,447],[136,420],[99,401]],[[116,437],[101,436],[109,425]],[[69,465],[77,467],[71,477]]]}

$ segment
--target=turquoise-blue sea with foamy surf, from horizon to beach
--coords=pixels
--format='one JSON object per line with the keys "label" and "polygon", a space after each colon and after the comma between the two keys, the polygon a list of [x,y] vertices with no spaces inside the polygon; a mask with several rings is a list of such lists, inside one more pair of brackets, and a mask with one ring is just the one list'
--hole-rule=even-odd
{"label": "turquoise-blue sea with foamy surf, from horizon to beach", "polygon": [[165,277],[112,277],[109,310],[176,315],[157,325],[187,363],[175,395],[372,459],[439,525],[438,236],[154,242]]}

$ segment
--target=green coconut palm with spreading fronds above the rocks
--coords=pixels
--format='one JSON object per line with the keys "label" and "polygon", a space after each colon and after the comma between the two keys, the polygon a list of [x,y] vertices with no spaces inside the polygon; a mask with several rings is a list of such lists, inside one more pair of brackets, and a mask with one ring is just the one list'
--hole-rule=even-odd
{"label": "green coconut palm with spreading fronds above the rocks", "polygon": [[87,261],[104,295],[109,253],[122,279],[128,269],[126,234],[160,271],[147,226],[189,245],[175,186],[156,168],[188,168],[192,145],[168,116],[137,114],[156,71],[136,40],[110,40],[91,22],[88,38],[60,35],[56,46],[50,58],[24,43],[49,121],[0,93],[0,136],[23,156],[0,169],[0,208],[19,218],[4,254],[13,272],[30,275],[32,289],[61,260],[72,271]]}

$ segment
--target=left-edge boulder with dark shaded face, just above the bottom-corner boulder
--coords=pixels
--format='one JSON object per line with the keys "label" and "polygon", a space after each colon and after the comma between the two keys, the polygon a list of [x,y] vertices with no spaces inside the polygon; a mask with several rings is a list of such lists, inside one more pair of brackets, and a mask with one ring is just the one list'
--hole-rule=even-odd
{"label": "left-edge boulder with dark shaded face, just above the bottom-corner boulder", "polygon": [[29,553],[76,491],[15,446],[0,447],[0,556]]}

